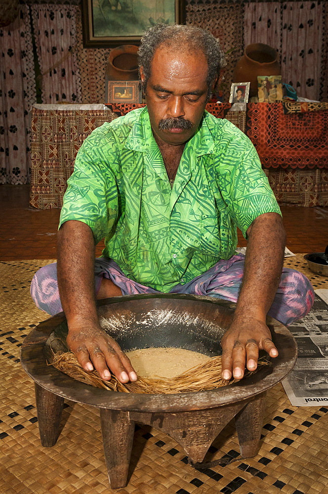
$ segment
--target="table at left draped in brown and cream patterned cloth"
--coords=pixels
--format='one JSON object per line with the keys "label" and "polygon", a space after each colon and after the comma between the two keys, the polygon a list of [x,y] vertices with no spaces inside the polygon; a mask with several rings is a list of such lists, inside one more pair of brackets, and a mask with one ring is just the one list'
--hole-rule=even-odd
{"label": "table at left draped in brown and cream patterned cloth", "polygon": [[61,208],[83,140],[116,116],[104,105],[35,105],[32,110],[30,205]]}

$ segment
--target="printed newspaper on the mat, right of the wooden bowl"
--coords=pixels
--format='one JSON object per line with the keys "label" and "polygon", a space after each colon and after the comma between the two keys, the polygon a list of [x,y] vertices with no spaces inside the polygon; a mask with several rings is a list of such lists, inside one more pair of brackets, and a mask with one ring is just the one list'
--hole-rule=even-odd
{"label": "printed newspaper on the mat, right of the wooden bowl", "polygon": [[283,386],[295,407],[328,405],[328,290],[315,292],[309,314],[288,326],[298,357]]}

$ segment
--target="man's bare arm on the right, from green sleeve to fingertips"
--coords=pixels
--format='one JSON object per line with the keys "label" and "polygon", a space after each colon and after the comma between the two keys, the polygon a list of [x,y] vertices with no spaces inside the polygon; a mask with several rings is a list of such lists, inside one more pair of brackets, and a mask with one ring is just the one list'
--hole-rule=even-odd
{"label": "man's bare arm on the right, from green sleeve to fingertips", "polygon": [[266,315],[282,274],[286,232],[277,213],[258,216],[247,230],[245,271],[233,322],[222,338],[222,377],[244,376],[257,367],[258,351],[277,357]]}

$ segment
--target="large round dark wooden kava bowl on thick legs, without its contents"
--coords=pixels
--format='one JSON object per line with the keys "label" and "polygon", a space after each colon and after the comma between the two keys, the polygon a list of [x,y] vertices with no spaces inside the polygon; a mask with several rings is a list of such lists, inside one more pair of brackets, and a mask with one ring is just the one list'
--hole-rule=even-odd
{"label": "large round dark wooden kava bowl on thick legs, without its contents", "polygon": [[[102,326],[124,351],[162,346],[208,356],[221,353],[220,341],[231,324],[234,309],[232,302],[182,294],[123,296],[98,302]],[[296,343],[288,329],[275,320],[269,328],[279,351],[270,366],[210,391],[151,395],[95,388],[48,366],[53,351],[67,351],[65,316],[61,313],[51,317],[26,337],[21,354],[23,368],[35,381],[42,446],[56,443],[66,398],[100,409],[113,489],[126,485],[135,422],[169,434],[197,463],[235,417],[241,454],[254,456],[259,449],[266,391],[287,376],[297,356]]]}

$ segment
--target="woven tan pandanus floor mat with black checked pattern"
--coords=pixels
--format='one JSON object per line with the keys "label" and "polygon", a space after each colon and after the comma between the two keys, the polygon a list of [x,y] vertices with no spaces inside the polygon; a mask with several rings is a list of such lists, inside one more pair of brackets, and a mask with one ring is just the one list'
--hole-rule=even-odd
{"label": "woven tan pandanus floor mat with black checked pattern", "polygon": [[[50,260],[0,263],[0,494],[321,494],[328,493],[328,406],[292,407],[281,384],[268,392],[259,453],[240,455],[229,423],[196,470],[170,437],[136,426],[127,487],[109,487],[97,409],[67,402],[59,439],[42,448],[34,383],[22,370],[22,342],[46,319],[32,302],[34,272]],[[303,255],[286,266],[307,274],[315,288],[328,279],[306,267]],[[217,463],[217,461],[216,461]]]}

